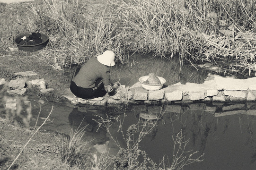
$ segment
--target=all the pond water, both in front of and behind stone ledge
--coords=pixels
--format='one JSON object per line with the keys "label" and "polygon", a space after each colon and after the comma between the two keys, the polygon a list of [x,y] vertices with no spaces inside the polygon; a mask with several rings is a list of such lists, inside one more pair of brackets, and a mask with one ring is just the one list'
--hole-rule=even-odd
{"label": "all the pond water, both in front of and behind stone ledge", "polygon": [[[160,63],[160,64],[159,64]],[[112,68],[114,81],[123,85],[133,85],[140,76],[150,72],[167,79],[167,85],[178,82],[203,83],[207,73],[197,72],[190,66],[182,67],[169,60],[144,59],[133,56],[126,66]],[[94,119],[99,117],[119,116],[124,132],[132,125],[141,121],[142,115],[158,116],[157,126],[145,136],[140,143],[148,157],[159,163],[165,157],[172,162],[175,136],[182,130],[185,140],[189,140],[186,151],[198,151],[194,156],[203,155],[203,161],[185,166],[185,170],[255,170],[256,169],[256,106],[239,103],[238,105],[212,105],[206,103],[172,104],[172,105],[133,105],[133,106],[78,106],[67,103],[49,102],[44,97],[27,95],[32,105],[31,127],[40,126],[53,106],[53,112],[46,121],[44,128],[69,135],[71,128],[85,127],[84,140],[90,141],[91,152],[109,150],[116,154],[119,150],[114,139],[125,147],[126,143],[115,122],[110,127],[110,136],[105,128],[97,127]],[[229,114],[214,114],[231,108]],[[233,108],[233,110],[232,110]],[[245,114],[244,110],[251,110]],[[40,111],[41,110],[41,111]],[[216,110],[216,111],[215,111]],[[39,119],[37,117],[39,114]],[[26,110],[21,115],[26,116]],[[223,115],[223,116],[222,116]],[[226,115],[226,116],[224,116]],[[21,121],[21,119],[18,119]],[[144,121],[144,119],[142,119]],[[192,153],[193,153],[192,152]]]}

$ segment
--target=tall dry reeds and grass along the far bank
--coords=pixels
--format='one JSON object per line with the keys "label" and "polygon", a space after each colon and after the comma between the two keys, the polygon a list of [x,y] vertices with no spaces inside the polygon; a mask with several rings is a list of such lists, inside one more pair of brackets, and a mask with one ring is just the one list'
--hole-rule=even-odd
{"label": "tall dry reeds and grass along the far bank", "polygon": [[[125,63],[131,52],[256,71],[255,0],[35,0],[3,23],[8,50],[19,33],[50,36],[38,53],[52,66],[83,64],[106,49]],[[3,6],[3,5],[2,5]],[[2,9],[3,10],[3,9]],[[9,11],[2,11],[2,16]],[[7,17],[7,16],[6,16]],[[19,24],[17,24],[19,23]]]}

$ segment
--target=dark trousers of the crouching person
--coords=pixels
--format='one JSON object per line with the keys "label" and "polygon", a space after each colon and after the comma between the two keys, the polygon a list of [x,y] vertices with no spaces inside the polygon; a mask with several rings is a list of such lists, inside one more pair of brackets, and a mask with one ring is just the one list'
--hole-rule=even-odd
{"label": "dark trousers of the crouching person", "polygon": [[[74,71],[73,76],[76,76],[79,70],[80,68],[77,68]],[[73,76],[72,76],[72,79],[73,79]],[[70,90],[73,94],[75,94],[79,98],[88,99],[92,97],[103,97],[106,94],[101,78],[97,79],[95,83],[95,87],[93,88],[79,87],[78,85],[75,84],[75,82],[72,81],[72,79],[70,84]]]}

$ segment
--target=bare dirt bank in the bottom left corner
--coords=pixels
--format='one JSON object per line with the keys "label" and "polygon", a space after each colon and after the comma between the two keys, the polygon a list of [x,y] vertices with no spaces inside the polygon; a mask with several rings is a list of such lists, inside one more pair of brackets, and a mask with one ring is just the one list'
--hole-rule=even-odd
{"label": "bare dirt bank in the bottom left corner", "polygon": [[34,130],[15,125],[12,120],[0,118],[0,169],[7,170],[26,146],[14,163],[16,170],[68,170],[58,157],[60,135],[44,129],[32,137],[34,133]]}

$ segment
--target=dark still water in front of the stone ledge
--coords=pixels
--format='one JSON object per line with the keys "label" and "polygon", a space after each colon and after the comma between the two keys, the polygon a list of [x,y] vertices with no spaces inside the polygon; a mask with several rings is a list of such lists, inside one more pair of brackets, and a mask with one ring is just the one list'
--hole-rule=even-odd
{"label": "dark still water in front of the stone ledge", "polygon": [[[33,118],[30,122],[32,127],[35,126],[39,112],[39,104],[34,106],[37,109],[33,110]],[[106,133],[106,129],[101,128],[97,131],[98,127],[94,119],[98,119],[98,116],[106,118],[106,115],[114,117],[120,115],[120,118],[124,119],[122,128],[125,132],[130,125],[140,121],[141,113],[161,114],[157,127],[140,143],[141,150],[144,150],[153,161],[160,162],[163,156],[172,161],[174,147],[172,136],[182,129],[185,140],[189,140],[186,150],[199,151],[195,157],[204,153],[202,162],[187,165],[185,170],[255,170],[256,168],[256,116],[243,114],[242,110],[241,114],[216,117],[212,114],[214,112],[207,110],[217,106],[205,103],[134,105],[126,108],[121,106],[71,108],[63,103],[48,102],[41,105],[37,127],[43,123],[52,106],[52,115],[44,128],[69,135],[71,128],[87,126],[84,140],[91,141],[88,146],[91,147],[92,152],[106,149],[109,150],[109,154],[116,154],[119,150],[111,136]],[[122,147],[125,147],[122,134],[117,132],[118,127],[118,123],[113,124],[110,133]]]}

